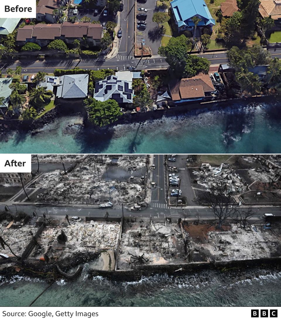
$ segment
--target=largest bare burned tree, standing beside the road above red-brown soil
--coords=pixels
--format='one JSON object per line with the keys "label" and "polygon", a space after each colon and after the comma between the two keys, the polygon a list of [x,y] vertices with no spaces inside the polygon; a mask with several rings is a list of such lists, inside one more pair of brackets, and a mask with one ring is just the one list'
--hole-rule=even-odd
{"label": "largest bare burned tree, standing beside the road above red-brown soil", "polygon": [[202,206],[209,206],[213,210],[216,219],[219,220],[218,229],[227,218],[233,217],[237,212],[236,202],[227,193],[226,186],[213,186],[209,191],[197,197],[197,203]]}

